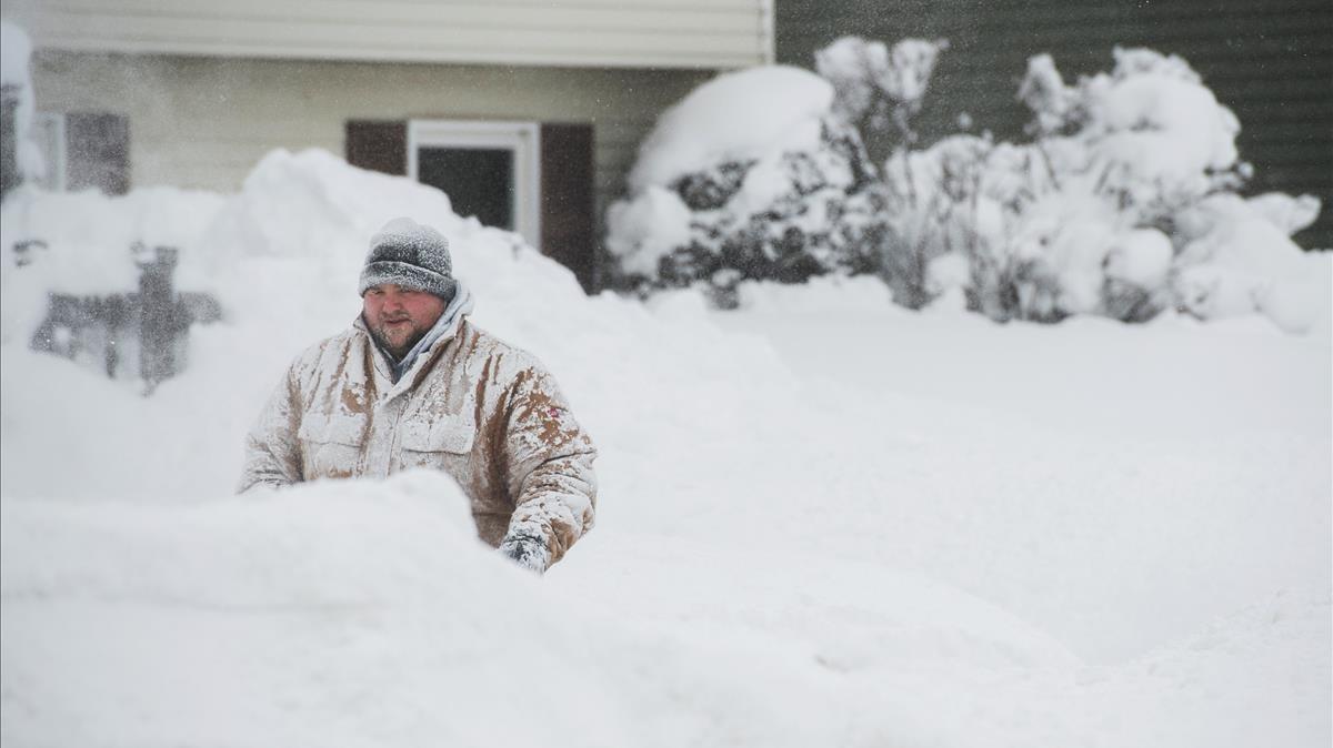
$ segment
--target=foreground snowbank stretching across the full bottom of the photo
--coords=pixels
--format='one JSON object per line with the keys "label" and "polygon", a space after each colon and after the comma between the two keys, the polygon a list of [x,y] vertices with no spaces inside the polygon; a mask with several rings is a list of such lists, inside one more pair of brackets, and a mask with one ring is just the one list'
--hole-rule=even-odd
{"label": "foreground snowbank stretching across the full bottom of the photo", "polygon": [[5,499],[0,532],[7,743],[472,745],[499,729],[509,745],[569,747],[1304,745],[1326,733],[1326,636],[1324,664],[1305,659],[1326,634],[1326,595],[1282,594],[1126,667],[1086,668],[994,608],[873,564],[772,568],[637,538],[615,551],[660,560],[615,583],[656,591],[647,600],[543,584],[477,542],[437,474],[203,503]]}

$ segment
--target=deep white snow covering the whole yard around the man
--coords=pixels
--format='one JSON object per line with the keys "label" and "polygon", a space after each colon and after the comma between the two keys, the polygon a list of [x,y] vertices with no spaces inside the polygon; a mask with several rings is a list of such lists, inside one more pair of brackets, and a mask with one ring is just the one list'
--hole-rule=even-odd
{"label": "deep white snow covering the whole yard around the man", "polygon": [[[59,234],[45,200],[7,204],[7,234]],[[228,317],[145,399],[27,351],[41,270],[5,270],[5,745],[1333,739],[1326,325],[1000,326],[874,280],[742,286],[733,313],[588,299],[320,153],[136,200],[188,204],[183,273]],[[364,242],[404,213],[601,447],[599,526],[545,578],[439,475],[231,496],[268,389],[351,322]]]}

